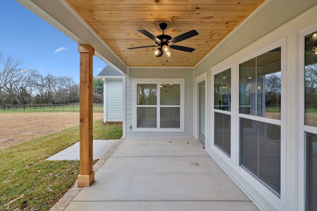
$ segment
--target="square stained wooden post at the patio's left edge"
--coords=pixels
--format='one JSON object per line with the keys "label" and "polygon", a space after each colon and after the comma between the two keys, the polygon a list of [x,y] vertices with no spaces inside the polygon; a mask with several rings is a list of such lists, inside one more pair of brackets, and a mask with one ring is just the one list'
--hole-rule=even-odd
{"label": "square stained wooden post at the patio's left edge", "polygon": [[78,186],[88,187],[95,180],[93,170],[93,56],[95,48],[89,44],[78,44],[78,52],[80,53]]}

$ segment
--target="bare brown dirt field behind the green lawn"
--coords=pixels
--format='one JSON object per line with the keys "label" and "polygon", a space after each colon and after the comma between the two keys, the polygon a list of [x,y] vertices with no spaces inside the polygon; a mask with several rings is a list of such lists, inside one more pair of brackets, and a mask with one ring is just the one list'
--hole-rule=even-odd
{"label": "bare brown dirt field behind the green lawn", "polygon": [[[103,119],[94,113],[93,119]],[[0,114],[0,149],[79,126],[78,112],[35,112]]]}

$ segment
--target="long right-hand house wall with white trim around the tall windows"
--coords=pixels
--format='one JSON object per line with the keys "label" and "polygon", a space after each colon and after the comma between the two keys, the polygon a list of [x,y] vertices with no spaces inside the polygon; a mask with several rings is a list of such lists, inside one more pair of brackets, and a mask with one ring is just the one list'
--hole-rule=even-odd
{"label": "long right-hand house wall with white trim around the tall windows", "polygon": [[[278,1],[280,2],[280,1]],[[276,3],[276,1],[275,1]],[[279,8],[271,8],[272,16],[263,20],[260,15],[254,15],[244,23],[245,42],[236,31],[225,42],[213,50],[194,68],[195,77],[207,72],[207,137],[206,150],[212,158],[246,191],[254,202],[263,210],[269,211],[302,211],[305,210],[305,140],[303,129],[304,115],[304,48],[301,32],[311,27],[317,31],[317,6],[315,1],[282,2]],[[268,2],[269,6],[270,2]],[[307,11],[305,11],[309,8]],[[274,13],[274,11],[276,13]],[[279,17],[293,11],[297,17],[280,24],[274,30]],[[303,12],[299,15],[299,13]],[[267,16],[267,15],[266,15]],[[293,16],[292,16],[293,17]],[[283,18],[281,18],[283,19]],[[255,23],[258,21],[259,26]],[[259,22],[260,21],[260,22]],[[272,26],[269,26],[269,25]],[[261,28],[264,27],[264,30]],[[238,33],[238,34],[237,34]],[[312,33],[312,32],[311,32]],[[237,35],[237,36],[236,36]],[[251,37],[252,38],[251,38]],[[257,39],[254,39],[257,38]],[[228,46],[231,43],[233,49]],[[232,45],[236,43],[237,46]],[[243,46],[244,45],[244,46]],[[282,99],[281,99],[281,193],[274,195],[261,182],[240,166],[240,131],[239,131],[239,63],[281,46]],[[225,52],[227,51],[227,52]],[[235,52],[236,51],[236,52]],[[302,53],[302,54],[301,54]],[[231,67],[232,77],[232,111],[231,111],[231,158],[225,156],[213,143],[213,76],[220,70]],[[302,72],[301,72],[302,71]],[[299,80],[302,79],[302,81]],[[197,94],[197,91],[195,92]],[[303,102],[302,102],[303,101]]]}

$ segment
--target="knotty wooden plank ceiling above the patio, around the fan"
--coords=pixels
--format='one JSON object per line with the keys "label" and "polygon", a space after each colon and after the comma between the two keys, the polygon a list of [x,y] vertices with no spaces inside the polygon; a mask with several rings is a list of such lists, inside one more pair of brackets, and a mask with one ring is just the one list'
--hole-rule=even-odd
{"label": "knotty wooden plank ceiling above the patio, around the fan", "polygon": [[[75,12],[129,67],[194,67],[264,0],[66,0]],[[158,47],[137,30],[172,38],[195,29],[199,35],[177,42],[193,52],[170,49],[172,57],[156,57]]]}

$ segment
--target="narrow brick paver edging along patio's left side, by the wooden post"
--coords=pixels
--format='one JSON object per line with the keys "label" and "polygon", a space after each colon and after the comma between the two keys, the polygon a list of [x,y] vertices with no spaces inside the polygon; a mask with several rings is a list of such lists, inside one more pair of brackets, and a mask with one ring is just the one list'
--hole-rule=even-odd
{"label": "narrow brick paver edging along patio's left side, by the wooden post", "polygon": [[[100,167],[104,165],[106,160],[111,156],[111,154],[118,148],[118,146],[123,142],[123,138],[119,139],[112,147],[106,151],[106,153],[99,159],[99,161],[94,165],[94,170],[97,172]],[[105,140],[106,141],[106,140]],[[77,196],[77,194],[83,189],[83,187],[78,187],[77,180],[72,188],[70,188],[65,195],[58,200],[58,202],[51,208],[50,211],[63,211],[71,203],[71,201]]]}

